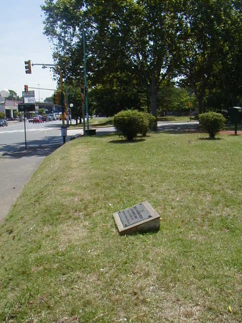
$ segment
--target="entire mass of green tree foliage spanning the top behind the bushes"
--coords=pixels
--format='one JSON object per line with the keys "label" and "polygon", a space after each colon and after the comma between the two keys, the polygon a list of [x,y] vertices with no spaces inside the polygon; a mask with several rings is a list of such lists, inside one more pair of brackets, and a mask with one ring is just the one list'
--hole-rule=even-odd
{"label": "entire mass of green tree foliage spanning the top behind the bushes", "polygon": [[91,97],[107,115],[145,106],[156,116],[171,80],[195,94],[200,112],[241,99],[238,1],[45,0],[42,10],[53,58],[78,86],[84,26]]}

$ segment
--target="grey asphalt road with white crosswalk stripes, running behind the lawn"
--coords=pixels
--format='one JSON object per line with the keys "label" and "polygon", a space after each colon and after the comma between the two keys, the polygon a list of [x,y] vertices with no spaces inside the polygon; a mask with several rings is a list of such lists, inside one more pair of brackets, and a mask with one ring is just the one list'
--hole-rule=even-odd
{"label": "grey asphalt road with white crosswalk stripes, running behind the lawn", "polygon": [[[75,122],[74,122],[75,124]],[[25,184],[45,156],[63,144],[61,121],[41,124],[26,122],[27,149],[25,149],[24,122],[9,122],[0,128],[0,222],[21,194]],[[158,122],[158,131],[182,133],[196,131],[198,122]],[[97,134],[115,132],[113,127],[98,128]],[[82,134],[82,130],[68,130],[66,140]]]}

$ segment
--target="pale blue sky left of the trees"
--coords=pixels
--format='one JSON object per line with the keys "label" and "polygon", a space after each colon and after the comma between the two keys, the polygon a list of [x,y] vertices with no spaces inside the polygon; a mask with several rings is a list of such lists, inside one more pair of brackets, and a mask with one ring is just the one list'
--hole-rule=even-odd
{"label": "pale blue sky left of the trees", "polygon": [[[32,74],[25,73],[24,61],[53,64],[51,43],[43,35],[44,15],[40,8],[43,4],[44,0],[8,0],[1,6],[0,91],[14,90],[22,96],[25,84],[29,90],[56,88],[49,68],[31,66]],[[41,101],[52,94],[53,91],[36,89],[35,99]]]}

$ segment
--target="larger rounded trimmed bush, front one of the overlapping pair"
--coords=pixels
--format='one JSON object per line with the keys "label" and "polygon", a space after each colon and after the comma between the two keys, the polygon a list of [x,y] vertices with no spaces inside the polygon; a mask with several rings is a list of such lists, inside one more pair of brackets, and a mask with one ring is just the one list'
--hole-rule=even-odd
{"label": "larger rounded trimmed bush, front one of the overlapping pair", "polygon": [[149,121],[145,114],[138,110],[126,110],[113,117],[113,125],[128,140],[133,140],[138,133],[147,133]]}

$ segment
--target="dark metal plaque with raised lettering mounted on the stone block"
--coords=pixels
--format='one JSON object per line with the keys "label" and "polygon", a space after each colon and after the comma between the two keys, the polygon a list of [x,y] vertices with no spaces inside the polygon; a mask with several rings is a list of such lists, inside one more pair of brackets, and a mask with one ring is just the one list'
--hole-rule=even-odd
{"label": "dark metal plaque with raised lettering mounted on the stone block", "polygon": [[147,208],[143,203],[137,204],[135,206],[126,208],[122,211],[117,212],[123,227],[126,228],[132,224],[138,223],[145,219],[152,218]]}

